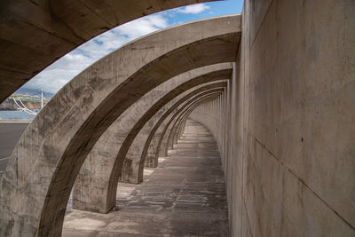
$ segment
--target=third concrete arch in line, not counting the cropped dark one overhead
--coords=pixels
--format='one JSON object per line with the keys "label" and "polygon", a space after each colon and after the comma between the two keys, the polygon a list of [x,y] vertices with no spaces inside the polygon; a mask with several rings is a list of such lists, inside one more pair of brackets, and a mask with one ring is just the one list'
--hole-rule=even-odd
{"label": "third concrete arch in line, not counting the cropped dark one overhead", "polygon": [[[215,89],[215,90],[209,90],[206,92],[201,92],[193,96],[193,98],[188,99],[185,102],[186,104],[189,104],[190,101],[194,101],[196,99],[200,98],[205,98],[207,95],[213,94],[214,96],[216,93],[220,93],[222,89]],[[179,101],[172,107],[177,107],[177,104],[179,104]],[[184,106],[183,106],[184,107]],[[123,166],[122,166],[122,176],[120,178],[121,181],[123,182],[129,182],[133,184],[138,184],[143,181],[143,170],[145,166],[145,161],[146,161],[146,155],[145,155],[145,144],[150,137],[150,133],[154,130],[154,126],[159,126],[158,124],[164,120],[171,112],[174,111],[174,108],[168,109],[168,111],[164,115],[159,115],[156,118],[154,118],[153,121],[149,121],[146,123],[145,127],[143,130],[140,130],[138,133],[138,136],[132,139],[131,145],[127,146],[129,149],[127,149],[126,152],[126,158],[124,160]],[[179,110],[177,110],[178,113]],[[122,151],[120,151],[121,153]],[[120,154],[119,154],[120,155]]]}

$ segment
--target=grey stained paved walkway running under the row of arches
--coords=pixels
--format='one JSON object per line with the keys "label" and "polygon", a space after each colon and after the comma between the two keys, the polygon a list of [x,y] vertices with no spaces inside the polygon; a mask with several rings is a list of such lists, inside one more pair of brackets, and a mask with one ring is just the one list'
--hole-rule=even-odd
{"label": "grey stained paved walkway running under the row of arches", "polygon": [[72,210],[63,236],[226,236],[225,181],[217,145],[200,123],[189,120],[184,136],[145,169],[139,185],[119,183],[118,210]]}

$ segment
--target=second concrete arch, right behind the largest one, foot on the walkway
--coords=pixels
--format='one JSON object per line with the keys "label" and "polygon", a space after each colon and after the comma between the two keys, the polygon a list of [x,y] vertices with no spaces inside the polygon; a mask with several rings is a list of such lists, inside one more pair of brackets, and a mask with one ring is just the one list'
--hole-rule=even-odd
{"label": "second concrete arch, right behind the largest one, foot on the walkway", "polygon": [[[174,101],[186,99],[186,95],[191,97],[194,93],[199,93],[202,90],[225,85],[225,81],[221,83],[221,79],[229,78],[231,73],[231,63],[193,69],[162,83],[125,110],[99,138],[83,163],[75,180],[73,207],[101,213],[113,209],[115,192],[112,190],[116,190],[113,183],[117,182],[110,179],[112,179],[111,177],[120,177],[120,173],[117,174],[117,169],[122,167],[122,180],[131,183],[141,182],[137,178],[138,171],[135,172],[136,179],[131,178],[130,170],[132,168],[129,167],[129,164],[132,164],[123,162],[123,160],[127,156],[133,139],[140,132],[139,130],[142,127],[149,130],[145,126],[148,121],[154,123],[151,116],[156,113],[154,116],[158,119],[164,111],[169,109],[170,105],[174,104]],[[172,100],[171,103],[170,100]],[[140,150],[143,150],[144,143],[134,144],[134,146],[138,150],[141,146]],[[130,148],[130,151],[132,150]]]}

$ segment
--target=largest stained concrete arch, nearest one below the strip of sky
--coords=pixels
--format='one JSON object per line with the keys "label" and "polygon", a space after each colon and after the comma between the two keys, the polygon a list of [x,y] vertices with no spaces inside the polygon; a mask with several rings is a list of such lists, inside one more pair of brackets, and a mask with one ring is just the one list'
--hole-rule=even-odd
{"label": "largest stained concrete arch, nearest one below the strip of sky", "polygon": [[106,128],[171,77],[233,61],[240,36],[240,15],[164,29],[114,51],[67,83],[12,153],[1,180],[2,232],[60,235],[76,175]]}

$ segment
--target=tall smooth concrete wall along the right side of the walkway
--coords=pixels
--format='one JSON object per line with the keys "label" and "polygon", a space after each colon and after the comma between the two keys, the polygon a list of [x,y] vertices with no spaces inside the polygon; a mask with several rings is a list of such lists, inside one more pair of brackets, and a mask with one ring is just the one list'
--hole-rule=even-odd
{"label": "tall smooth concrete wall along the right side of the walkway", "polygon": [[245,1],[225,98],[191,115],[223,156],[233,236],[355,236],[354,12]]}

